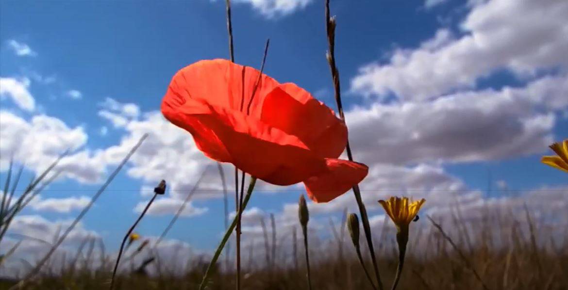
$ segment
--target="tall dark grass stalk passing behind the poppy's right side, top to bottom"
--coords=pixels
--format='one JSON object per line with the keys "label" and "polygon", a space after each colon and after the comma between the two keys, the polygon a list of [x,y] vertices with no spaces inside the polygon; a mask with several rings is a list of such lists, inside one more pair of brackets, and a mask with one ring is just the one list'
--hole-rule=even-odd
{"label": "tall dark grass stalk passing behind the poppy's right side, top to bottom", "polygon": [[[327,53],[327,61],[329,63],[329,68],[331,69],[331,75],[333,79],[333,88],[335,89],[335,100],[337,103],[337,111],[339,111],[339,116],[341,120],[345,122],[345,115],[343,113],[343,105],[341,103],[341,88],[339,82],[339,70],[337,70],[337,65],[335,63],[335,18],[329,16],[329,0],[325,0],[325,28],[327,31],[327,39],[329,45],[329,51]],[[353,161],[353,154],[351,153],[351,147],[349,146],[349,138],[346,144],[347,157],[349,161]],[[377,258],[375,257],[375,249],[373,246],[373,237],[371,236],[371,227],[369,225],[369,217],[367,216],[367,210],[365,204],[361,199],[361,191],[359,190],[358,184],[353,186],[353,194],[355,195],[355,200],[357,201],[357,206],[361,214],[361,220],[363,223],[363,229],[365,232],[365,238],[367,240],[367,246],[369,247],[369,254],[371,255],[371,262],[373,262],[373,270],[377,278],[378,287],[380,290],[383,289],[383,284],[381,282],[381,275],[379,274],[379,268],[377,264]]]}

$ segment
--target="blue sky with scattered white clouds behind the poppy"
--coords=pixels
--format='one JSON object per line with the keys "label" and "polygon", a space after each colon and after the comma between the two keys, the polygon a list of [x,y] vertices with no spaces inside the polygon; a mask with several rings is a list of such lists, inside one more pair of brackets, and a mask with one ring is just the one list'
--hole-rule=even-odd
{"label": "blue sky with scattered white clouds behind the poppy", "polygon": [[[158,236],[205,172],[168,238],[213,249],[224,228],[215,163],[159,108],[178,69],[228,57],[224,1],[1,6],[0,180],[12,156],[27,180],[71,149],[61,177],[12,233],[55,236],[149,133],[74,237],[118,249],[166,179],[167,194],[137,230]],[[361,188],[371,222],[382,222],[377,200],[389,195],[424,197],[433,215],[458,201],[471,217],[483,204],[514,210],[526,201],[568,222],[566,174],[539,162],[550,143],[568,137],[567,1],[332,1],[332,14],[350,142],[370,167]],[[233,32],[236,62],[258,67],[270,38],[265,72],[335,107],[323,1],[233,1]],[[232,193],[232,168],[224,172]],[[257,188],[245,238],[269,213],[282,229],[293,226],[302,187]],[[356,211],[351,192],[308,206],[316,229],[344,208]]]}

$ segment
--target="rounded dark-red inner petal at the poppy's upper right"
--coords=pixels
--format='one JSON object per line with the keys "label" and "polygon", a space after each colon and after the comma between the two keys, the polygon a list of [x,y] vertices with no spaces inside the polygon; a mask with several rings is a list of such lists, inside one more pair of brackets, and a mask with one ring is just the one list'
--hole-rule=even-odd
{"label": "rounded dark-red inner petal at the poppy's upper right", "polygon": [[279,85],[266,95],[261,120],[298,136],[321,158],[339,157],[347,144],[345,123],[294,83]]}

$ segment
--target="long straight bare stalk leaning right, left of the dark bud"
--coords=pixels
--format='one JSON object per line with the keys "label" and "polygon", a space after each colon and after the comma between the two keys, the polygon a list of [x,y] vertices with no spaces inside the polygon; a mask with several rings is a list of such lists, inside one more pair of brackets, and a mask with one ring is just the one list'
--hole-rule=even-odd
{"label": "long straight bare stalk leaning right, left of the dark bud", "polygon": [[140,138],[140,140],[138,141],[138,143],[130,150],[130,152],[128,152],[128,154],[126,155],[126,157],[124,157],[124,159],[122,159],[122,162],[120,162],[120,164],[118,165],[118,167],[116,167],[116,169],[111,173],[110,176],[108,176],[108,179],[106,180],[105,183],[103,183],[103,185],[101,186],[101,188],[99,188],[99,190],[97,191],[97,193],[93,196],[93,198],[91,199],[91,201],[89,202],[89,204],[87,204],[87,206],[85,208],[83,208],[83,210],[81,211],[81,213],[79,213],[79,215],[75,218],[75,220],[72,222],[72,224],[69,226],[69,228],[67,228],[65,230],[65,232],[61,235],[61,237],[59,237],[59,239],[57,240],[57,242],[55,242],[53,244],[53,246],[51,247],[51,249],[49,249],[49,251],[47,252],[47,254],[45,254],[45,256],[43,257],[43,259],[41,259],[39,262],[37,262],[35,268],[28,272],[28,274],[24,277],[24,279],[20,280],[18,284],[12,286],[11,288],[9,288],[9,290],[15,290],[15,289],[21,289],[24,287],[24,284],[26,284],[26,282],[28,280],[30,280],[31,278],[34,278],[35,275],[37,275],[37,273],[39,273],[39,270],[41,270],[41,267],[43,267],[43,265],[45,264],[45,262],[47,262],[47,260],[49,260],[49,258],[51,258],[51,255],[53,253],[55,253],[55,250],[57,249],[57,247],[59,247],[61,245],[61,243],[65,240],[65,238],[69,235],[69,233],[75,228],[75,226],[78,224],[79,221],[81,221],[81,219],[83,218],[83,216],[85,216],[85,214],[89,211],[89,209],[93,206],[93,204],[95,203],[95,201],[97,201],[97,199],[99,198],[99,196],[101,196],[101,194],[106,190],[108,184],[110,184],[112,182],[112,180],[116,177],[116,175],[118,175],[118,173],[120,172],[120,170],[122,169],[122,167],[124,167],[124,165],[126,164],[126,162],[128,162],[128,159],[130,159],[130,157],[132,156],[132,154],[134,154],[134,152],[136,152],[136,149],[138,149],[140,147],[140,145],[142,145],[142,142],[144,142],[144,140],[148,137],[148,134],[144,134],[144,136],[142,136]]}

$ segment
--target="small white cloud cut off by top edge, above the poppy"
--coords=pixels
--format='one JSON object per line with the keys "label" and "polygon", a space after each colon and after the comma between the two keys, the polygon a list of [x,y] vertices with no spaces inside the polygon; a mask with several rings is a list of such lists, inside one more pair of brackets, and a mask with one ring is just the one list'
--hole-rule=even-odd
{"label": "small white cloud cut off by top edge, above the poppy", "polygon": [[289,15],[304,9],[312,0],[235,0],[234,3],[247,3],[266,18]]}

